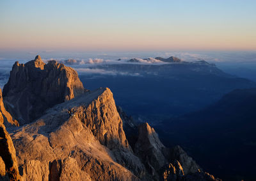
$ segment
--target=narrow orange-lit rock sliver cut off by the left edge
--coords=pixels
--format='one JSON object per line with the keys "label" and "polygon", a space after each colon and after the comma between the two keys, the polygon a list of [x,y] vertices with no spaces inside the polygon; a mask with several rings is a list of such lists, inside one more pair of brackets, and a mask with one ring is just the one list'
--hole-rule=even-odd
{"label": "narrow orange-lit rock sliver cut off by the left edge", "polygon": [[19,169],[12,138],[6,131],[0,112],[0,180],[19,180]]}

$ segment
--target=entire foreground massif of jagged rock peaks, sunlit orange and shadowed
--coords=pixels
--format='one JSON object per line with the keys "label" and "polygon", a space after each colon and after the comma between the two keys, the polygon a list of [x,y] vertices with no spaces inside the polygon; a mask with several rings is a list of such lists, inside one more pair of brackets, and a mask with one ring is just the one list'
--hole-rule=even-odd
{"label": "entire foreground massif of jagged rock peaks, sunlit orange and shadowed", "polygon": [[[38,84],[31,77],[40,80]],[[52,84],[45,81],[49,77]],[[56,79],[62,82],[56,84]],[[45,64],[36,57],[24,65],[15,63],[4,86],[8,90],[4,101],[25,110],[26,114],[17,112],[16,116],[28,116],[41,106],[31,102],[29,93],[42,100],[48,95],[45,86],[59,96],[59,104],[52,98],[51,104],[44,105],[45,111],[26,125],[13,127],[6,122],[10,135],[0,112],[0,180],[219,180],[202,171],[180,146],[166,148],[148,123],[138,125],[122,108],[116,108],[109,88],[84,91],[77,73],[56,61]],[[29,104],[29,110],[28,106],[21,109],[22,96],[27,96],[24,105]],[[10,102],[14,97],[19,103]],[[132,139],[127,139],[123,128]]]}

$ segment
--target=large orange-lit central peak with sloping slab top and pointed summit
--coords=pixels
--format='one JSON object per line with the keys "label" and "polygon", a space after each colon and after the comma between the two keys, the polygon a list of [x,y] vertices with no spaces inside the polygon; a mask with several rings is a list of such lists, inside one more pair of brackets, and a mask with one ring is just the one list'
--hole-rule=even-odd
{"label": "large orange-lit central peak with sloping slab top and pointed summit", "polygon": [[36,122],[13,129],[12,135],[25,180],[147,177],[127,142],[108,88],[58,104]]}

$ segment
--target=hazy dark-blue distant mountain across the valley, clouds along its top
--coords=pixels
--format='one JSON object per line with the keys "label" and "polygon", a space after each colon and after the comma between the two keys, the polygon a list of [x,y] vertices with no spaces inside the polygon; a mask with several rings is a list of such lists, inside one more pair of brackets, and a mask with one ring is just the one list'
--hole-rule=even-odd
{"label": "hazy dark-blue distant mountain across the valley, clouds along its top", "polygon": [[77,71],[89,89],[111,88],[118,106],[149,123],[202,109],[234,89],[256,87],[202,60],[97,64]]}

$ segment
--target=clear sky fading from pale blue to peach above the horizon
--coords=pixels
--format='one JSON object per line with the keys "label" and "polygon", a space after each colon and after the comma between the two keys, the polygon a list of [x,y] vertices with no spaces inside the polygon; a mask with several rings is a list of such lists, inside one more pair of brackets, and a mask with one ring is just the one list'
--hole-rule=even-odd
{"label": "clear sky fading from pale blue to peach above the horizon", "polygon": [[256,51],[256,1],[0,1],[0,51]]}

